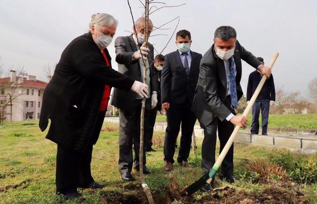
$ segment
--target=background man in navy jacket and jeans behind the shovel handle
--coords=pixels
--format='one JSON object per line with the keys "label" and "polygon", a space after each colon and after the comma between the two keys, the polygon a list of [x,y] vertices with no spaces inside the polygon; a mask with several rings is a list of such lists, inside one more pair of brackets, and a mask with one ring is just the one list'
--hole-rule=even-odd
{"label": "background man in navy jacket and jeans behind the shovel handle", "polygon": [[[257,57],[257,59],[264,65],[264,60],[262,57]],[[251,100],[254,91],[257,89],[260,81],[262,79],[261,73],[256,70],[249,75],[248,88],[247,88],[247,102]],[[275,86],[273,75],[264,82],[264,85],[257,97],[256,101],[252,106],[252,125],[251,133],[259,134],[259,116],[260,109],[262,115],[262,134],[267,135],[267,123],[268,123],[268,113],[270,107],[270,101],[273,103],[275,101]]]}

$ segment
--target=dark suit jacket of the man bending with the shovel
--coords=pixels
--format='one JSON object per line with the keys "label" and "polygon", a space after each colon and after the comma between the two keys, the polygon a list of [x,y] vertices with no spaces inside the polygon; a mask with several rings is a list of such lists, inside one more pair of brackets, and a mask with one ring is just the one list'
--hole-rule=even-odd
{"label": "dark suit jacket of the man bending with the shovel", "polygon": [[[242,74],[241,59],[254,68],[261,65],[261,62],[251,52],[241,46],[238,41],[236,42],[233,57],[237,71],[237,96],[238,100],[240,100],[243,95],[240,85]],[[224,63],[216,55],[214,44],[212,44],[200,62],[200,74],[192,106],[192,111],[196,114],[201,126],[207,126],[216,117],[223,121],[230,115],[230,110],[224,105],[226,93],[227,79]]]}

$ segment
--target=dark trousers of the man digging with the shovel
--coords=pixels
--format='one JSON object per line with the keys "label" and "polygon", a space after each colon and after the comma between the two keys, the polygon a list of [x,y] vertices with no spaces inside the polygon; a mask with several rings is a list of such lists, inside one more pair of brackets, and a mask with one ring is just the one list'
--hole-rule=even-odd
{"label": "dark trousers of the man digging with the shovel", "polygon": [[[230,107],[231,98],[227,97],[225,100],[226,107],[235,114],[234,110]],[[202,144],[202,171],[203,174],[208,172],[213,164],[215,163],[215,149],[216,149],[216,139],[217,139],[217,129],[218,129],[218,138],[220,141],[220,150],[222,151],[223,147],[227,143],[233,129],[234,125],[227,121],[223,120],[222,122],[215,118],[209,125],[204,127],[204,140]],[[233,175],[233,144],[231,145],[227,155],[225,156],[221,164],[221,174],[224,176]]]}

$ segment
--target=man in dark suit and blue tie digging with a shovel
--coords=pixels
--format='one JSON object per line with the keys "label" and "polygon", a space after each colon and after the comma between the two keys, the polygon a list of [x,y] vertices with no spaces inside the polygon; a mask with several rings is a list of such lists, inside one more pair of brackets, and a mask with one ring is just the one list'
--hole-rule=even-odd
{"label": "man in dark suit and blue tie digging with a shovel", "polygon": [[[242,96],[240,86],[241,59],[258,69],[267,78],[270,69],[236,40],[236,31],[230,26],[221,26],[214,33],[214,44],[206,52],[200,63],[200,74],[193,101],[192,111],[204,128],[202,144],[203,174],[215,162],[216,132],[220,140],[220,152],[228,141],[234,125],[243,127],[247,123],[244,116],[235,116],[235,108]],[[233,144],[221,165],[220,178],[233,183]],[[208,184],[201,189],[210,192]]]}

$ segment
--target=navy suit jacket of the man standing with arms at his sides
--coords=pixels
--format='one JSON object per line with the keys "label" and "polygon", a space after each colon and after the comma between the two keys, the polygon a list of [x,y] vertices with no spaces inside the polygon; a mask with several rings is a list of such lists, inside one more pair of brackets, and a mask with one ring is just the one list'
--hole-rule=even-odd
{"label": "navy suit jacket of the man standing with arms at his sides", "polygon": [[187,77],[179,51],[165,55],[161,76],[161,103],[182,104],[188,98],[193,101],[199,75],[202,54],[190,51],[192,60]]}

